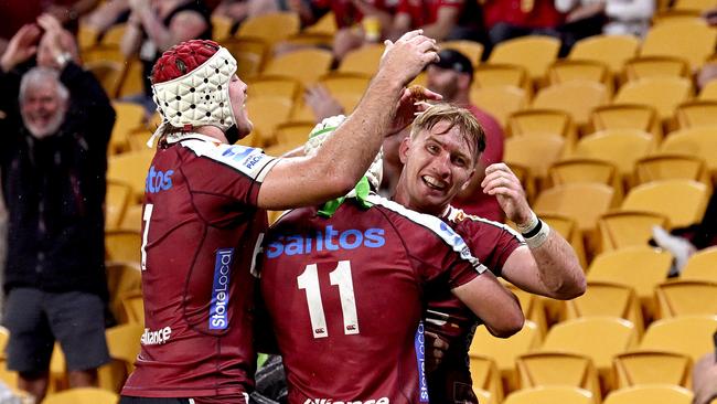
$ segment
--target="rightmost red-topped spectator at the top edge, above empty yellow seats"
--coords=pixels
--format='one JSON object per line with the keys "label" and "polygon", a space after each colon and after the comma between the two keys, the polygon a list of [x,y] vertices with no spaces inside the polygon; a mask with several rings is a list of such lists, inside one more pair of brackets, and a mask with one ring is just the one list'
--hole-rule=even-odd
{"label": "rightmost red-topped spectator at the top edge, above empty yellow seats", "polygon": [[[555,0],[483,0],[483,15],[491,45],[525,35],[560,38],[564,15]],[[488,56],[490,52],[484,52]]]}

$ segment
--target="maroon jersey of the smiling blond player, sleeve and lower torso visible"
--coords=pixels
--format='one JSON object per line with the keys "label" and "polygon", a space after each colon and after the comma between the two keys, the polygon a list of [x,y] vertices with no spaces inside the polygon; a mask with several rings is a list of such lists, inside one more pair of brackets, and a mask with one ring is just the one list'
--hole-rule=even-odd
{"label": "maroon jersey of the smiling blond player, sleeve and lower torso visible", "polygon": [[[465,214],[449,206],[443,217],[482,264],[495,276],[515,248],[524,245],[523,237],[511,227]],[[478,403],[472,392],[468,368],[468,349],[480,320],[452,294],[436,290],[428,297],[426,330],[449,342],[441,364],[428,375],[431,403]]]}

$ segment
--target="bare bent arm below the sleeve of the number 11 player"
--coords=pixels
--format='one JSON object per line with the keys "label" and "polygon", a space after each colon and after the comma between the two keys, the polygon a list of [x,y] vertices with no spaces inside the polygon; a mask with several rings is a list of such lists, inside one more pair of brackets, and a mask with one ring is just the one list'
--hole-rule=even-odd
{"label": "bare bent arm below the sleeve of the number 11 player", "polygon": [[491,334],[507,338],[523,328],[521,304],[490,270],[451,291],[483,320]]}

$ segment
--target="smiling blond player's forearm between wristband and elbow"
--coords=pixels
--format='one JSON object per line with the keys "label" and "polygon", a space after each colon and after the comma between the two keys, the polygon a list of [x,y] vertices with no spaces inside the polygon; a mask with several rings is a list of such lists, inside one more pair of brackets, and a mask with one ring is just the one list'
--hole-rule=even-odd
{"label": "smiling blond player's forearm between wristband and elbow", "polygon": [[531,248],[531,253],[546,296],[567,300],[585,294],[587,286],[582,267],[570,244],[559,234],[552,230],[548,240],[539,247]]}

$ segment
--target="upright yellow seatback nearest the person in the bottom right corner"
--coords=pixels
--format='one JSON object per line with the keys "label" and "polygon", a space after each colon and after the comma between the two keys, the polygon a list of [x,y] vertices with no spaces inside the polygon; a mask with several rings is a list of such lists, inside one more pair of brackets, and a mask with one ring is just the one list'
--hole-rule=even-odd
{"label": "upright yellow seatback nearest the person in the bottom right corner", "polygon": [[631,351],[614,357],[613,371],[618,389],[634,385],[666,383],[689,386],[692,359],[665,351]]}

